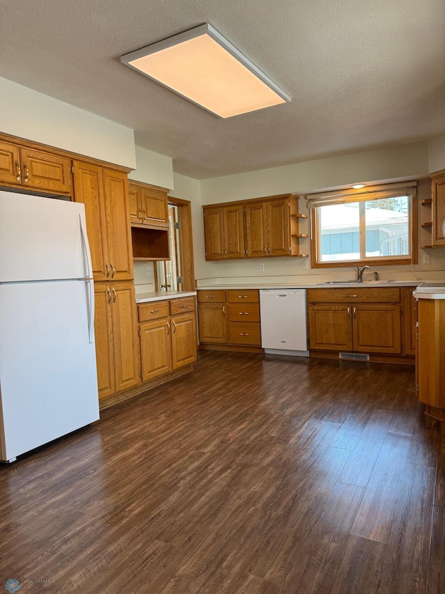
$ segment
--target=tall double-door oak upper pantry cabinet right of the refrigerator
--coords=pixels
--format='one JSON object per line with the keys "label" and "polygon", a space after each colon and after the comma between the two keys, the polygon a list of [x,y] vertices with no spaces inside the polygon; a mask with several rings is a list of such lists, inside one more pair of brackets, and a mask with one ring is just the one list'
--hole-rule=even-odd
{"label": "tall double-door oak upper pantry cabinet right of the refrigerator", "polygon": [[74,161],[74,201],[85,205],[95,281],[133,278],[127,174]]}

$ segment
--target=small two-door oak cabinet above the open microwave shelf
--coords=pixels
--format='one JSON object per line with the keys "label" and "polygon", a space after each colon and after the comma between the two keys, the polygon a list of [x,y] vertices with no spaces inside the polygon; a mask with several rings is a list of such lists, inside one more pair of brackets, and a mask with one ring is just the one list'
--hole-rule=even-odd
{"label": "small two-door oak cabinet above the open microwave shelf", "polygon": [[129,182],[132,225],[168,227],[168,189]]}

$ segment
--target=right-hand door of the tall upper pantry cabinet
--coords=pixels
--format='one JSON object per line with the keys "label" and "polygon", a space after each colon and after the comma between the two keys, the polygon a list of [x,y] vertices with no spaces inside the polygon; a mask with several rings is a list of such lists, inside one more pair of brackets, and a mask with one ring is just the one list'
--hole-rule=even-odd
{"label": "right-hand door of the tall upper pantry cabinet", "polygon": [[133,278],[133,250],[127,173],[104,169],[104,197],[110,278],[129,280]]}

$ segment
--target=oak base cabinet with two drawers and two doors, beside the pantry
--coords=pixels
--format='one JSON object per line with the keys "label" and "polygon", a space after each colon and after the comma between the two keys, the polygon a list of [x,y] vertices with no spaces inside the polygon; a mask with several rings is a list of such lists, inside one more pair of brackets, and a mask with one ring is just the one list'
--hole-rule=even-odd
{"label": "oak base cabinet with two drawers and two doors, beside the pantry", "polygon": [[[170,307],[169,307],[170,304]],[[184,308],[186,313],[175,313]],[[193,311],[190,311],[193,308]],[[196,361],[195,299],[140,304],[139,325],[142,380],[147,382]],[[169,315],[170,313],[170,315]]]}

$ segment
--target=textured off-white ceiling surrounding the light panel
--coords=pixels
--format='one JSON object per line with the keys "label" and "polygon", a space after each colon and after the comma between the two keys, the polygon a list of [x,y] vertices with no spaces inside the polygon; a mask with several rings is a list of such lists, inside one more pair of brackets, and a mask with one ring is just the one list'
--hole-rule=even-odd
{"label": "textured off-white ceiling surrounding the light panel", "polygon": [[[120,63],[209,22],[292,97],[216,118]],[[443,0],[2,0],[0,76],[211,178],[445,133]]]}

